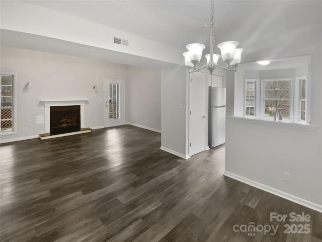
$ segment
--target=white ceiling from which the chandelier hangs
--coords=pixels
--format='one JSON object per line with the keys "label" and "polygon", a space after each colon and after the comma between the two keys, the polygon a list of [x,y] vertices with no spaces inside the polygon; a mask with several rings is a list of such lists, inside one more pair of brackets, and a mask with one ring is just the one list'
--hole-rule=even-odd
{"label": "white ceiling from which the chandelier hangs", "polygon": [[[203,23],[210,15],[210,1],[22,2],[119,29],[183,52],[193,42],[209,46],[209,29]],[[312,26],[322,25],[322,1],[215,1],[214,7],[216,44],[239,41],[238,47],[245,49],[243,63],[307,55],[314,41],[310,40],[311,36],[303,35],[310,33]]]}

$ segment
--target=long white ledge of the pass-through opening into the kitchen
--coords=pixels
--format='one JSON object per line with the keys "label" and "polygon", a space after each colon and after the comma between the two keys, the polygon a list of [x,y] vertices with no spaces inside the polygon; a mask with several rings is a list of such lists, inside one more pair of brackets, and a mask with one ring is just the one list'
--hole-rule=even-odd
{"label": "long white ledge of the pass-through opening into the kitchen", "polygon": [[283,121],[283,120],[280,122],[280,121],[260,119],[260,118],[254,118],[254,117],[247,118],[247,117],[229,116],[227,119],[229,121],[237,122],[237,123],[265,125],[265,126],[287,128],[287,129],[294,129],[294,130],[314,131],[317,128],[316,125],[293,123],[293,122]]}

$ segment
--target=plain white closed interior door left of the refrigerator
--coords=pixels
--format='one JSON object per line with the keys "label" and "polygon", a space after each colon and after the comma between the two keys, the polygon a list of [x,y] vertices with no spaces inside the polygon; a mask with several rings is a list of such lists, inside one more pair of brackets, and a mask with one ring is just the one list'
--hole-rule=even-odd
{"label": "plain white closed interior door left of the refrigerator", "polygon": [[206,87],[205,73],[190,76],[190,155],[206,150]]}

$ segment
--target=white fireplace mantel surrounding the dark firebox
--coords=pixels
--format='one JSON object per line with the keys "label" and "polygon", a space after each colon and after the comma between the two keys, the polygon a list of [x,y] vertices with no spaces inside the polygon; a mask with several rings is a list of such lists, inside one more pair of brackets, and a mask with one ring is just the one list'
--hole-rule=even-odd
{"label": "white fireplace mantel surrounding the dark firebox", "polygon": [[45,133],[50,133],[50,107],[52,106],[81,106],[81,129],[85,128],[85,102],[83,100],[40,100],[45,103]]}

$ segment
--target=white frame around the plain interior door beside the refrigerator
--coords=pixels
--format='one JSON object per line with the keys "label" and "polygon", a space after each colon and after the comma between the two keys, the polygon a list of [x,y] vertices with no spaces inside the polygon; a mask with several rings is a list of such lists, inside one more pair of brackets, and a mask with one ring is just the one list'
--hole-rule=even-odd
{"label": "white frame around the plain interior door beside the refrigerator", "polygon": [[[203,73],[205,75],[205,79],[204,79],[204,82],[205,82],[205,91],[206,91],[206,95],[205,95],[205,140],[204,140],[204,145],[205,145],[205,150],[209,150],[209,146],[208,146],[208,102],[209,102],[209,83],[208,83],[208,73],[206,72],[202,72],[202,71],[198,71],[200,73]],[[190,143],[191,143],[191,114],[190,114],[190,111],[191,111],[191,80],[192,80],[192,77],[191,77],[191,73],[189,73],[189,142],[188,142],[188,147],[189,147],[189,157],[191,157],[191,146],[190,146]]]}

